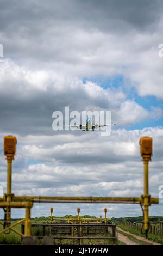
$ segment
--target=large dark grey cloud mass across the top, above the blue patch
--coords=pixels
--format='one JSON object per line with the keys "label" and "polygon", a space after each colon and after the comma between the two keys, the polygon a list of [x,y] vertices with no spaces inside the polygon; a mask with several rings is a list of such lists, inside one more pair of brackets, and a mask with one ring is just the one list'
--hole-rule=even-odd
{"label": "large dark grey cloud mass across the top, above the blue patch", "polygon": [[[29,1],[14,8],[17,5],[1,3],[5,58],[31,70],[50,69],[79,79],[122,75],[139,95],[162,99],[161,1]],[[34,77],[40,88],[41,81],[45,86],[45,73],[35,72]],[[28,78],[33,80],[32,74]]]}

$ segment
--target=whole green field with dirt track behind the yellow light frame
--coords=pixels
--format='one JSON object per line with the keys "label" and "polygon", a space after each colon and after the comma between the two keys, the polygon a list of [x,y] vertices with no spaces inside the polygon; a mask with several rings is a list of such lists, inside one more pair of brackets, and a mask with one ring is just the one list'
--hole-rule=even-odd
{"label": "whole green field with dirt track behind the yellow light frame", "polygon": [[[73,218],[77,218],[77,216],[68,216],[70,218],[70,223]],[[83,216],[80,216],[83,217]],[[84,216],[87,218],[92,219],[92,223],[96,223],[96,217],[95,216]],[[87,228],[82,227],[82,233],[80,234],[80,231],[78,230],[79,227],[71,227],[71,224],[67,223],[67,220],[64,220],[64,218],[67,218],[67,216],[64,217],[53,217],[53,225],[54,227],[51,227],[51,221],[50,217],[40,217],[40,218],[34,218],[32,220],[32,236],[38,237],[38,243],[43,242],[43,236],[53,236],[54,245],[112,245],[113,240],[110,239],[112,237],[112,229],[108,228],[106,229],[105,225],[103,227],[89,227]],[[152,217],[151,217],[152,218]],[[156,220],[155,217],[152,218],[152,220]],[[108,221],[107,224],[114,223],[117,224],[117,240],[116,245],[150,245],[151,242],[160,243],[163,245],[163,235],[162,234],[153,234],[153,230],[162,230],[162,220],[161,218],[158,218],[160,223],[157,222],[151,222],[151,233],[148,233],[148,239],[149,240],[141,240],[141,237],[145,237],[143,234],[141,234],[140,222],[134,222],[135,218],[124,218],[121,221],[120,219],[113,218],[111,221]],[[115,222],[116,220],[116,222]],[[125,221],[124,221],[125,220]],[[127,221],[126,221],[127,220]],[[130,220],[130,221],[129,221]],[[136,220],[140,220],[139,217],[137,217]],[[15,220],[12,220],[12,223]],[[76,222],[77,223],[77,222]],[[122,224],[123,223],[123,224]],[[125,223],[125,224],[124,224]],[[156,224],[157,223],[157,224]],[[59,228],[57,225],[61,225]],[[79,224],[79,223],[78,223]],[[104,223],[103,223],[104,224]],[[44,227],[44,226],[45,227]],[[63,226],[63,225],[66,225]],[[153,226],[156,227],[158,225],[158,228],[152,228]],[[119,229],[121,228],[121,229]],[[2,229],[2,227],[1,227]],[[16,230],[22,231],[22,225],[19,224],[15,227]],[[72,237],[72,230],[73,230],[73,239]],[[129,233],[126,233],[128,231]],[[139,237],[134,237],[133,235],[137,235]],[[83,237],[83,239],[79,239],[79,236]],[[77,238],[78,237],[78,238]],[[84,239],[84,237],[87,237],[88,239]],[[93,239],[92,239],[93,237]],[[99,238],[103,239],[99,239]],[[105,239],[104,239],[105,238]],[[21,244],[22,238],[21,236],[17,235],[13,231],[10,232],[10,234],[2,234],[0,235],[0,243],[1,244]]]}

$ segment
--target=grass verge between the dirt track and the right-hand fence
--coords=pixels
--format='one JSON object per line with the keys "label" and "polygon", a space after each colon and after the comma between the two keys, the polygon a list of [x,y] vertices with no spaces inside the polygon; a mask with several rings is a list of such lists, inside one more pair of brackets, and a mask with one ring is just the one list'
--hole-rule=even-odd
{"label": "grass verge between the dirt track and the right-hand fence", "polygon": [[[128,232],[133,233],[135,235],[145,237],[145,235],[141,234],[141,231],[137,230],[136,228],[126,227],[124,225],[118,225],[118,227],[122,228],[124,231],[128,231]],[[156,234],[148,233],[148,239],[153,241],[153,242],[161,243],[163,245],[163,235],[156,235]]]}

